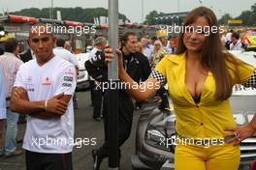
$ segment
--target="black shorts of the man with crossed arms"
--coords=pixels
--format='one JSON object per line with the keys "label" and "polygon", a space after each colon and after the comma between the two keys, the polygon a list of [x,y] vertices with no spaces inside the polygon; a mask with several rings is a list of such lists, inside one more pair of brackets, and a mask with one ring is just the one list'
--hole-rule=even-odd
{"label": "black shorts of the man with crossed arms", "polygon": [[27,170],[73,170],[72,153],[42,154],[26,151]]}

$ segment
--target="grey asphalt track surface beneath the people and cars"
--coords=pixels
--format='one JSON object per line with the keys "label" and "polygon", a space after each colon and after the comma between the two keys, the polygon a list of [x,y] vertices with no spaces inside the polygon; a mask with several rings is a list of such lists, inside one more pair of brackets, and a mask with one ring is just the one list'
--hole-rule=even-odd
{"label": "grey asphalt track surface beneath the people and cars", "polygon": [[[84,144],[74,148],[73,152],[73,168],[74,170],[91,170],[92,156],[91,150],[100,147],[104,141],[103,121],[95,122],[92,119],[93,107],[90,106],[90,93],[79,92],[79,109],[75,110],[75,139],[80,141],[84,139]],[[135,130],[139,113],[134,113],[133,129],[130,138],[122,146],[122,157],[120,168],[122,170],[131,170],[131,156],[135,153]],[[22,139],[25,130],[25,124],[18,125],[17,139]],[[92,139],[96,138],[96,139]],[[89,142],[88,142],[89,140]],[[93,145],[96,141],[96,145]],[[21,144],[18,144],[18,149]],[[0,170],[25,170],[25,155],[15,157],[0,157]],[[108,158],[104,159],[101,170],[108,170]]]}

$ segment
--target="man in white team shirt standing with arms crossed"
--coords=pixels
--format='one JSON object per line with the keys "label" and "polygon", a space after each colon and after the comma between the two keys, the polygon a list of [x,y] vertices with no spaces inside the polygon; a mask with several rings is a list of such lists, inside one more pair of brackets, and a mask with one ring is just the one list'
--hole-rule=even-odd
{"label": "man in white team shirt standing with arms crossed", "polygon": [[74,65],[55,56],[47,25],[32,27],[29,44],[36,59],[20,66],[11,109],[27,114],[23,140],[27,170],[71,170],[74,137]]}

